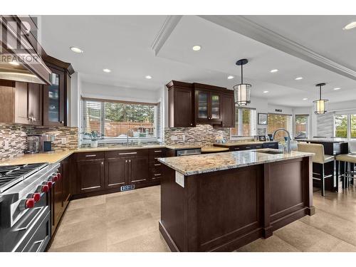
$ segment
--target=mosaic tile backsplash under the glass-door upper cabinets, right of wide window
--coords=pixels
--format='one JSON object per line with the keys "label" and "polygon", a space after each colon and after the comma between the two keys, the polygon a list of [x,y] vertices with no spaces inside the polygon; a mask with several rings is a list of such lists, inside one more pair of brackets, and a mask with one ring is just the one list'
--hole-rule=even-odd
{"label": "mosaic tile backsplash under the glass-door upper cabinets, right of wide window", "polygon": [[[164,144],[166,145],[212,145],[217,135],[222,135],[229,141],[230,128],[214,128],[211,125],[197,125],[197,127],[178,127],[164,129]],[[176,136],[177,140],[172,140]],[[185,139],[183,138],[185,137]]]}

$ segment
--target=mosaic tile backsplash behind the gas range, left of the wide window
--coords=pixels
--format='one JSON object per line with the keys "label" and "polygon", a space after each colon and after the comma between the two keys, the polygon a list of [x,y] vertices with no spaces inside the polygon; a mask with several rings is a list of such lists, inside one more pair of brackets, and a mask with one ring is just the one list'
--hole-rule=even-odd
{"label": "mosaic tile backsplash behind the gas range, left of the wide window", "polygon": [[[0,124],[0,160],[19,157],[27,149],[27,134],[54,135],[52,149],[55,151],[78,148],[78,127],[43,127],[28,125]],[[66,144],[62,144],[66,138]]]}

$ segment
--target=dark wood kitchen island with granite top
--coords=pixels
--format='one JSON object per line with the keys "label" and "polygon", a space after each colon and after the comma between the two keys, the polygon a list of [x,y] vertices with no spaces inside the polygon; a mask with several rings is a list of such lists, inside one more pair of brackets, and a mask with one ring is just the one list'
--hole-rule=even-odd
{"label": "dark wood kitchen island with granite top", "polygon": [[313,215],[312,153],[249,150],[159,159],[159,231],[171,251],[234,251]]}

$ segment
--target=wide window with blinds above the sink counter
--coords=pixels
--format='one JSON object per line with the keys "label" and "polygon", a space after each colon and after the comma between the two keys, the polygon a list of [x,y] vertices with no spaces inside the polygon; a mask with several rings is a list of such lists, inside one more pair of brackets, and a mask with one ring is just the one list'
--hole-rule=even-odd
{"label": "wide window with blinds above the sink counter", "polygon": [[[160,103],[130,103],[125,101],[83,98],[80,115],[82,132],[98,132],[102,139],[126,139],[132,130],[133,137],[160,139]],[[83,139],[87,139],[83,135]],[[132,138],[129,135],[129,138]]]}

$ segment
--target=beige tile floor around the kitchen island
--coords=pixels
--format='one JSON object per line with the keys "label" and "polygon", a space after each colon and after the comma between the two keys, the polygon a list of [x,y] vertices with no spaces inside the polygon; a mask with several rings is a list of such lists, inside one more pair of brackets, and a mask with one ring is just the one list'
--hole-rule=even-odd
{"label": "beige tile floor around the kitchen island", "polygon": [[[49,251],[169,251],[159,234],[159,186],[70,202]],[[314,216],[237,251],[356,251],[356,189],[314,192]]]}

